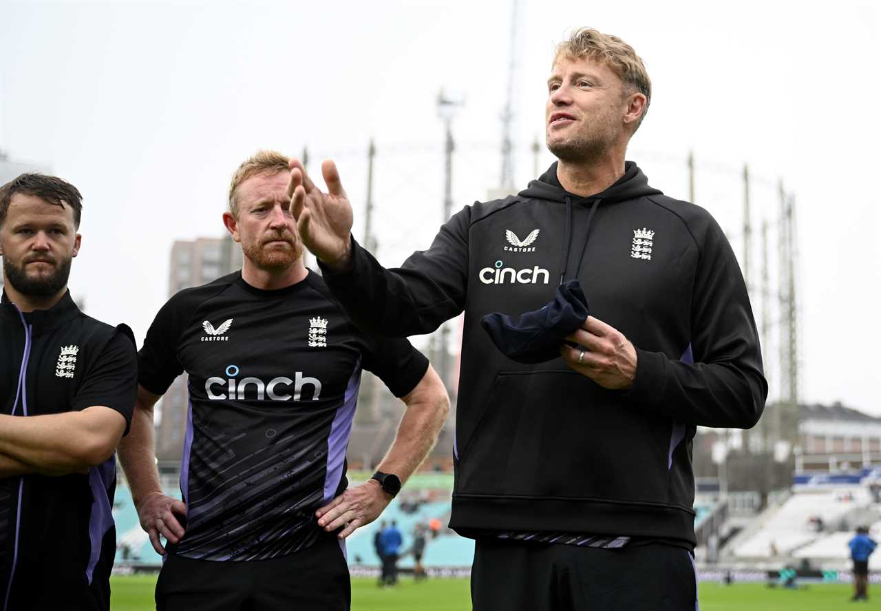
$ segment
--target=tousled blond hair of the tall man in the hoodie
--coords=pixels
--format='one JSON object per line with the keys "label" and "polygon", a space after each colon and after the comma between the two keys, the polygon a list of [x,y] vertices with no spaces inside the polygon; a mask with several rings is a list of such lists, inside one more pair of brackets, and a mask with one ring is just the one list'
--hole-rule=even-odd
{"label": "tousled blond hair of the tall man in the hoodie", "polygon": [[611,71],[618,75],[624,86],[646,96],[646,106],[642,109],[640,120],[636,122],[633,131],[636,131],[648,112],[648,104],[652,101],[652,81],[648,78],[645,64],[640,56],[636,55],[633,47],[622,41],[618,36],[603,34],[590,27],[582,27],[575,30],[566,41],[557,45],[553,56],[553,63],[557,63],[560,56],[567,59],[589,58],[608,66]]}

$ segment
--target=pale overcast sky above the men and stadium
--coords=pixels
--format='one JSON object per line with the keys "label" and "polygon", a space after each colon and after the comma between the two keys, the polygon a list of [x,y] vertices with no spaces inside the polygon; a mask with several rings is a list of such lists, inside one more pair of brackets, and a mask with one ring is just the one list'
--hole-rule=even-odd
{"label": "pale overcast sky above the men and stadium", "polygon": [[[17,3],[0,0],[0,149],[85,196],[70,287],[143,339],[167,299],[172,242],[221,235],[233,169],[259,148],[333,157],[363,227],[366,146],[377,145],[374,227],[385,265],[441,224],[444,87],[455,116],[454,210],[500,176],[500,113],[515,53],[517,184],[534,178],[554,44],[577,26],[636,48],[653,82],[628,159],[695,201],[744,249],[776,182],[796,197],[801,396],[881,415],[877,393],[878,11],[874,2]],[[552,162],[544,145],[540,170]],[[758,235],[758,230],[755,235]],[[751,250],[758,288],[761,250]],[[753,293],[759,318],[762,302]],[[779,317],[772,311],[772,317]],[[779,392],[776,328],[769,347]]]}

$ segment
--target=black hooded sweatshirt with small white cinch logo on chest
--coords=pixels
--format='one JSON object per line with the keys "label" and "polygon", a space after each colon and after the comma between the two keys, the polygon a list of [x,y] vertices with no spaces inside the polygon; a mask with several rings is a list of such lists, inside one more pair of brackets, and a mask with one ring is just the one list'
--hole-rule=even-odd
{"label": "black hooded sweatshirt with small white cinch logo on chest", "polygon": [[[694,542],[692,437],[750,428],[765,405],[744,279],[709,213],[648,186],[632,162],[577,197],[554,164],[516,196],[475,203],[429,250],[385,270],[357,243],[325,279],[361,325],[432,332],[464,310],[450,526]],[[609,391],[562,359],[524,365],[480,327],[518,316],[578,278],[591,316],[637,352],[633,386]]]}

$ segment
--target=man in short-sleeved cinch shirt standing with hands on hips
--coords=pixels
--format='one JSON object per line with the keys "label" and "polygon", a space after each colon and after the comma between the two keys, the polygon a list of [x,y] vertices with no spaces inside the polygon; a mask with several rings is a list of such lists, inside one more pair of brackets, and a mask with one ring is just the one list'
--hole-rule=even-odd
{"label": "man in short-sleeved cinch shirt standing with hands on hips", "polygon": [[[288,161],[263,151],[236,170],[223,218],[241,272],[175,294],[138,354],[120,458],[141,525],[167,553],[160,610],[348,609],[344,538],[381,514],[448,414],[426,358],[406,339],[359,332],[303,265]],[[374,477],[346,489],[362,369],[407,408]],[[183,371],[181,502],[159,485],[153,406]]]}

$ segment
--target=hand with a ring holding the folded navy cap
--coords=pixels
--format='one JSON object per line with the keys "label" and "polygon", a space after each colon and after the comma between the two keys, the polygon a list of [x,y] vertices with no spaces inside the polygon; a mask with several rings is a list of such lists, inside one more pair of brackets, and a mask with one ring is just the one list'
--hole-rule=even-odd
{"label": "hand with a ring holding the folded navy cap", "polygon": [[566,337],[581,347],[563,344],[559,354],[566,364],[603,388],[629,388],[636,379],[636,348],[624,333],[595,317]]}

